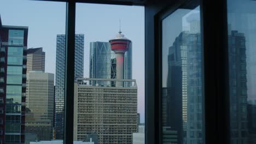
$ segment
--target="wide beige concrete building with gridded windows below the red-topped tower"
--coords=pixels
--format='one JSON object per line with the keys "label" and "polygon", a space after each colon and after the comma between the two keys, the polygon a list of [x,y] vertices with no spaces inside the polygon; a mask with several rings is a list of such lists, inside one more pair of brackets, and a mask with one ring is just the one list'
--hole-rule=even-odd
{"label": "wide beige concrete building with gridded windows below the red-topped tower", "polygon": [[[121,81],[123,87],[98,85]],[[96,86],[91,85],[96,82]],[[132,86],[126,86],[126,82]],[[135,80],[78,79],[74,90],[74,140],[97,134],[98,143],[132,143],[137,132],[137,85]]]}

